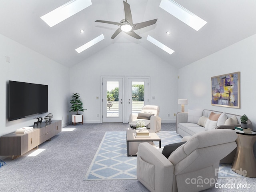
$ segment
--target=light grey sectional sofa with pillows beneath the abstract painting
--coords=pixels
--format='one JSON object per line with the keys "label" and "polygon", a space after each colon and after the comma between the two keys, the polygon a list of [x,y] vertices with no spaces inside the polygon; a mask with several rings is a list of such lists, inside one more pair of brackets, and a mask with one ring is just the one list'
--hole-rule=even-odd
{"label": "light grey sectional sofa with pillows beneath the abstract painting", "polygon": [[[209,119],[211,113],[220,115],[217,121]],[[188,112],[177,113],[176,132],[184,137],[212,129],[235,129],[236,126],[241,126],[240,117],[235,114],[206,109],[188,110]],[[252,128],[250,120],[248,120],[248,128]]]}

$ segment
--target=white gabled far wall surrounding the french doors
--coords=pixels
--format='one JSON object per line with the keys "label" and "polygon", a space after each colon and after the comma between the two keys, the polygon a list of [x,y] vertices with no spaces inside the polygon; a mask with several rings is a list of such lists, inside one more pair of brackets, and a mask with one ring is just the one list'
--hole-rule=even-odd
{"label": "white gabled far wall surrounding the french doors", "polygon": [[[84,122],[99,123],[101,76],[149,76],[150,104],[160,106],[162,122],[175,122],[178,69],[138,44],[112,44],[71,68],[70,95],[79,93],[84,103]],[[155,96],[155,100],[152,100]],[[124,101],[126,103],[126,101]],[[168,116],[170,114],[170,116]],[[128,114],[129,115],[129,114]]]}

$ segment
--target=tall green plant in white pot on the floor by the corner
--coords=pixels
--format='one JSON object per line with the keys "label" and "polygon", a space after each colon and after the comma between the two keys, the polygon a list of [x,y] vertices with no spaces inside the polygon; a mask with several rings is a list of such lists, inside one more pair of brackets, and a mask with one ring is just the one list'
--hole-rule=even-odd
{"label": "tall green plant in white pot on the floor by the corner", "polygon": [[87,109],[83,108],[83,102],[80,99],[80,94],[78,93],[73,93],[72,97],[70,98],[70,103],[72,104],[70,107],[69,112],[76,112],[76,114],[72,114],[72,124],[75,123],[81,123],[83,124],[83,115],[78,114],[78,111],[84,111]]}

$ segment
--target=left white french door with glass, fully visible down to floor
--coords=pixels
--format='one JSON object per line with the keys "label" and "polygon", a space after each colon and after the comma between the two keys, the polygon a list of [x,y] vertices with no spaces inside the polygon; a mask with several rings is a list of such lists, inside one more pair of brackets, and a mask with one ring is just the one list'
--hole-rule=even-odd
{"label": "left white french door with glass, fully visible down to floor", "polygon": [[102,122],[123,122],[123,78],[102,78]]}

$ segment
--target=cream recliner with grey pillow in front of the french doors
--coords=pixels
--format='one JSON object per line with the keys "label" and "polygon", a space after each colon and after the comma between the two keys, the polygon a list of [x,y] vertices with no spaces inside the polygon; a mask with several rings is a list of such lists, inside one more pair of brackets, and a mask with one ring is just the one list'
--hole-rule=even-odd
{"label": "cream recliner with grey pillow in front of the french doors", "polygon": [[161,130],[161,118],[158,116],[159,106],[156,105],[145,105],[143,106],[141,112],[137,114],[130,114],[129,125],[131,127],[135,126],[139,120],[143,120],[146,127],[154,132]]}

